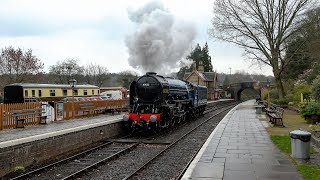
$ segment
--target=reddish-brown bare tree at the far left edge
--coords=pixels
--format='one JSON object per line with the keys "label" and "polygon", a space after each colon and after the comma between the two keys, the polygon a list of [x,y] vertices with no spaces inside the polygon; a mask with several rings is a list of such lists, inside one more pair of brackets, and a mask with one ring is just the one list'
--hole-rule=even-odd
{"label": "reddish-brown bare tree at the far left edge", "polygon": [[41,72],[43,63],[29,49],[6,47],[0,54],[0,74],[8,79],[7,83],[26,82]]}

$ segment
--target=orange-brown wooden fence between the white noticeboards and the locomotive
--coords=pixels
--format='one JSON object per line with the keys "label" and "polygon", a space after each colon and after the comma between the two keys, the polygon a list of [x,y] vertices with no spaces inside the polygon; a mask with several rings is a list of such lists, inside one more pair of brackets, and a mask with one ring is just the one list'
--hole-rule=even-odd
{"label": "orange-brown wooden fence between the white noticeboards and the locomotive", "polygon": [[[102,100],[102,101],[76,101],[74,102],[74,118],[84,116],[84,111],[81,109],[81,104],[92,104],[94,109],[119,109],[128,105],[127,99],[122,100]],[[63,103],[64,119],[69,120],[72,118],[72,102]],[[98,112],[98,111],[97,111]],[[101,111],[102,112],[102,111]],[[100,112],[100,113],[101,113]],[[89,115],[96,115],[94,111],[90,111]]]}

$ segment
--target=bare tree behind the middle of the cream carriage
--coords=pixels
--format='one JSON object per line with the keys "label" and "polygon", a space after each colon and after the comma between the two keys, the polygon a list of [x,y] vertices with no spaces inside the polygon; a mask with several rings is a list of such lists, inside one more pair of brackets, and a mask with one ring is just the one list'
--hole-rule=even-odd
{"label": "bare tree behind the middle of the cream carriage", "polygon": [[[76,76],[80,76],[84,71],[84,68],[78,65],[76,59],[66,59],[62,62],[57,62],[56,65],[50,66],[49,73],[57,76],[55,83],[68,84],[69,80]],[[79,79],[79,78],[76,78]]]}

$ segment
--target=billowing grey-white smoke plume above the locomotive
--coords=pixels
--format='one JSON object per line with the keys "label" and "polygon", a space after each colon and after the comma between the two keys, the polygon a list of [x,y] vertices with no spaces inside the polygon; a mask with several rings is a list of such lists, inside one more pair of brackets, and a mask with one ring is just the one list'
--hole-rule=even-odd
{"label": "billowing grey-white smoke plume above the locomotive", "polygon": [[135,32],[126,37],[129,65],[141,70],[167,74],[178,67],[195,38],[191,24],[178,21],[159,1],[151,1],[140,9],[128,10],[136,23]]}

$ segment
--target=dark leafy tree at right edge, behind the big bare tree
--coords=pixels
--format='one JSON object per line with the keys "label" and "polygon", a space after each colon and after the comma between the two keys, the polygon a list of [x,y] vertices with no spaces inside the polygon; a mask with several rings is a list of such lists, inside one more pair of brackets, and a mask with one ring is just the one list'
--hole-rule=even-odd
{"label": "dark leafy tree at right edge, behind the big bare tree", "polygon": [[[308,83],[320,73],[320,8],[311,10],[304,23],[297,29],[286,50],[285,59],[289,62],[284,69],[285,79],[301,79]],[[301,77],[300,77],[301,76]]]}

